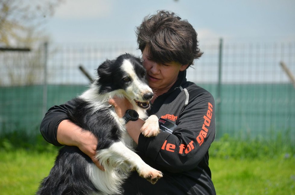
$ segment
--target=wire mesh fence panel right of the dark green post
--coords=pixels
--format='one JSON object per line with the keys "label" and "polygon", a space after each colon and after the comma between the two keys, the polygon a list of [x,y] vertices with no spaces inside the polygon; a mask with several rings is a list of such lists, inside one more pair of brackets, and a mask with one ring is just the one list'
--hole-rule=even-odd
{"label": "wire mesh fence panel right of the dark green post", "polygon": [[280,66],[295,73],[294,44],[224,45],[220,134],[294,136],[295,88]]}

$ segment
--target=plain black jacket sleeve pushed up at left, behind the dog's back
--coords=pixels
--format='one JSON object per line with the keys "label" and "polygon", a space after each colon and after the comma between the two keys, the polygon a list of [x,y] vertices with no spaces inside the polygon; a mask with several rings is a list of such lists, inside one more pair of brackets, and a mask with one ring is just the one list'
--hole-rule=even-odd
{"label": "plain black jacket sleeve pushed up at left, behind the dog's back", "polygon": [[73,102],[68,101],[62,105],[53,106],[47,111],[40,125],[40,132],[47,142],[55,146],[62,146],[56,139],[57,128],[60,122],[68,119],[67,110],[72,107]]}

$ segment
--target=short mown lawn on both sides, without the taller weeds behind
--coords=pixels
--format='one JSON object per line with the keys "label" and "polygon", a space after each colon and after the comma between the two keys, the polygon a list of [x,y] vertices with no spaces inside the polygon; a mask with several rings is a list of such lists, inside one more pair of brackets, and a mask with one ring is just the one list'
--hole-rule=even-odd
{"label": "short mown lawn on both sides, without the taller weeds behind", "polygon": [[[0,194],[34,194],[53,166],[56,152],[0,150]],[[295,157],[234,159],[211,157],[218,195],[295,194]]]}

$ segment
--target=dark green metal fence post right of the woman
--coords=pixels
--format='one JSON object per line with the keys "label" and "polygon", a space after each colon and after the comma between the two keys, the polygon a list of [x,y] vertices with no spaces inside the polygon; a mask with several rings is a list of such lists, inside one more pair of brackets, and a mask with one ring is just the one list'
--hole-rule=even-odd
{"label": "dark green metal fence post right of the woman", "polygon": [[220,120],[220,110],[221,110],[221,73],[222,73],[222,48],[223,39],[219,39],[219,56],[218,56],[218,85],[217,85],[217,98],[216,98],[216,129],[218,130],[218,135],[222,135],[221,130],[221,120]]}

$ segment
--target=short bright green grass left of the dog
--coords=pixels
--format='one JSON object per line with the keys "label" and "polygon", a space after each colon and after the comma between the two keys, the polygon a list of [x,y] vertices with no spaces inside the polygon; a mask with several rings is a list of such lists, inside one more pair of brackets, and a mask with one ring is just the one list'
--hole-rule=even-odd
{"label": "short bright green grass left of the dog", "polygon": [[49,174],[55,156],[56,152],[0,150],[0,194],[35,194],[41,179]]}

